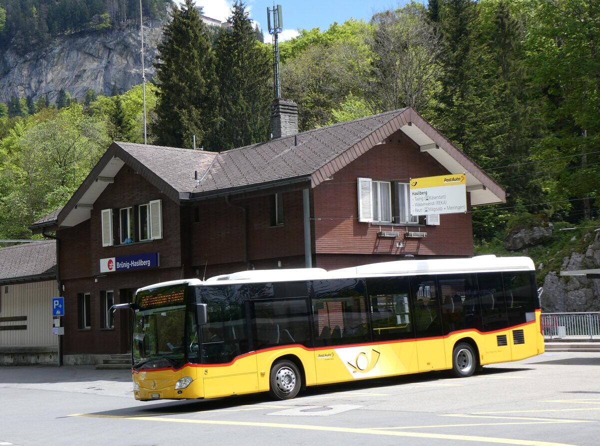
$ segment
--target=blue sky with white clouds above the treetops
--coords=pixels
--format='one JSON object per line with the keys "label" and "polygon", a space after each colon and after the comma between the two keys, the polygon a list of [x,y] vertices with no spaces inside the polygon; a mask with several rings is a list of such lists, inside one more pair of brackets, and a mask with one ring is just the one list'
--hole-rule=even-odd
{"label": "blue sky with white clouds above the treetops", "polygon": [[[259,23],[270,42],[266,23],[266,8],[273,4],[281,5],[283,32],[279,40],[285,41],[298,35],[298,29],[320,28],[325,31],[334,22],[344,23],[348,19],[364,19],[368,22],[373,14],[390,8],[398,8],[406,3],[402,0],[245,0],[250,19]],[[230,15],[233,1],[196,0],[196,6],[204,7],[204,15],[222,22]]]}

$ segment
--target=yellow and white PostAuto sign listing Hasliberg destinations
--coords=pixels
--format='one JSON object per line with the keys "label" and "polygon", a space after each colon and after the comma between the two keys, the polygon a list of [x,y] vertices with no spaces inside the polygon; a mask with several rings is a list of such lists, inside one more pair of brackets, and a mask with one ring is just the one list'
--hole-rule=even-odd
{"label": "yellow and white PostAuto sign listing Hasliberg destinations", "polygon": [[410,179],[410,214],[458,214],[467,211],[467,175]]}

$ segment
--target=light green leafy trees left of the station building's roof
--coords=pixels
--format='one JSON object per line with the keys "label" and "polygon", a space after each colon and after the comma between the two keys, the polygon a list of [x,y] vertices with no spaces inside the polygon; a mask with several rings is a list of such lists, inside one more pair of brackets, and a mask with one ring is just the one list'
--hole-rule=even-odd
{"label": "light green leafy trees left of the station building's roof", "polygon": [[62,206],[109,145],[106,126],[72,104],[14,122],[0,142],[0,237],[28,238],[28,226]]}

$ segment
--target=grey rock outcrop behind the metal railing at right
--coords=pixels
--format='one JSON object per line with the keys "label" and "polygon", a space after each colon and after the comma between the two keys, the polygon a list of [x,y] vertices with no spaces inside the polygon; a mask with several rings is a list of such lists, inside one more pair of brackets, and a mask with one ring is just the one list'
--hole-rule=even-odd
{"label": "grey rock outcrop behind the metal railing at right", "polygon": [[[563,260],[562,271],[600,268],[600,232],[587,234],[590,244],[585,253],[572,253]],[[585,276],[559,276],[552,271],[544,280],[542,309],[550,312],[600,311],[600,279]]]}

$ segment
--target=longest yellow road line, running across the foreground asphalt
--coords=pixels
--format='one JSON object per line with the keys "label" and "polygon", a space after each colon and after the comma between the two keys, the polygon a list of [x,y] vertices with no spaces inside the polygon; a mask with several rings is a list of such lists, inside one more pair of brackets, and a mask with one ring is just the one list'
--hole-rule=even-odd
{"label": "longest yellow road line, running across the foreground asphalt", "polygon": [[213,424],[220,426],[245,426],[245,427],[274,427],[280,429],[302,429],[302,430],[318,430],[326,432],[344,432],[367,435],[386,435],[397,437],[412,437],[412,438],[432,438],[440,440],[455,440],[455,441],[478,441],[485,443],[510,444],[518,446],[574,446],[564,443],[554,443],[546,441],[531,441],[519,440],[512,438],[493,438],[475,435],[449,435],[438,433],[421,433],[421,432],[396,432],[391,430],[377,429],[358,429],[353,427],[336,427],[336,426],[311,426],[308,424],[283,424],[283,423],[255,423],[247,421],[218,421],[218,420],[190,420],[185,418],[161,418],[161,417],[131,417],[128,415],[96,415],[96,414],[73,414],[71,417],[91,417],[91,418],[121,418],[124,420],[146,420],[146,421],[163,421],[166,423],[189,423],[189,424]]}

